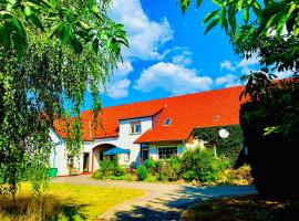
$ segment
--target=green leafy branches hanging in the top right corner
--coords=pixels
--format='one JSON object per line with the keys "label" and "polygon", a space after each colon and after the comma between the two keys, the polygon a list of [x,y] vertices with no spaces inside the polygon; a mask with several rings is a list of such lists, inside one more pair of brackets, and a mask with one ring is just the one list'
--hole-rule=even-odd
{"label": "green leafy branches hanging in the top right corner", "polygon": [[[200,7],[203,0],[197,0]],[[183,13],[190,0],[179,0]],[[237,54],[260,57],[260,64],[278,71],[299,69],[299,2],[297,0],[213,0],[218,9],[203,20],[205,33],[221,25]]]}

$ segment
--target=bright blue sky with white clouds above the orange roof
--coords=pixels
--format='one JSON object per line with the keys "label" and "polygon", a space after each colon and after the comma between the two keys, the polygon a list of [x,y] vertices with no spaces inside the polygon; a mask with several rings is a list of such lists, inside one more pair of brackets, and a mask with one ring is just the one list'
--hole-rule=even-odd
{"label": "bright blue sky with white clouds above the orange roof", "polygon": [[203,18],[214,8],[204,1],[183,15],[176,0],[114,0],[110,15],[125,25],[131,48],[101,94],[103,106],[238,85],[258,59],[235,55],[218,27],[204,35]]}

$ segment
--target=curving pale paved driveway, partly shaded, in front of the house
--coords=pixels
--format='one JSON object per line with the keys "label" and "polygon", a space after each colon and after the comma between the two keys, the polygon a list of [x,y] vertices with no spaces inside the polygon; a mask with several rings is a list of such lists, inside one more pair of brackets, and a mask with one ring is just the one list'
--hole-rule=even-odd
{"label": "curving pale paved driveway, partly shaded, in front of the house", "polygon": [[89,185],[142,189],[145,197],[117,204],[99,220],[179,220],[184,209],[206,199],[256,193],[254,186],[196,187],[189,185],[164,185],[125,181],[99,181],[89,176],[62,177],[53,183]]}

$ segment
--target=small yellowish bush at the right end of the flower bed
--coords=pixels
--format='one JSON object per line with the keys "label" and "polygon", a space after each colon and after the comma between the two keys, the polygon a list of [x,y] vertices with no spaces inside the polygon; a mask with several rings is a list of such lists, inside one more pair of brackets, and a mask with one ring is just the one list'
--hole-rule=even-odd
{"label": "small yellowish bush at the right end of the flower bed", "polygon": [[238,169],[226,169],[219,176],[217,183],[221,185],[251,185],[254,178],[251,176],[251,168],[248,165],[244,165]]}

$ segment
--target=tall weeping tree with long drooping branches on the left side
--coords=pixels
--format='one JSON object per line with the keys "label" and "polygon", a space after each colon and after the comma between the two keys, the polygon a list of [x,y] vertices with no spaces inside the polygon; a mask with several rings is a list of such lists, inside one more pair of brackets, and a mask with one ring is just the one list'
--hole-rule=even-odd
{"label": "tall weeping tree with long drooping branches on the left side", "polygon": [[22,180],[34,192],[47,183],[49,129],[68,135],[70,157],[81,152],[84,93],[92,93],[96,119],[99,87],[105,88],[127,40],[123,25],[107,18],[107,1],[0,2],[0,193],[14,197]]}

